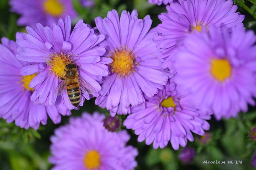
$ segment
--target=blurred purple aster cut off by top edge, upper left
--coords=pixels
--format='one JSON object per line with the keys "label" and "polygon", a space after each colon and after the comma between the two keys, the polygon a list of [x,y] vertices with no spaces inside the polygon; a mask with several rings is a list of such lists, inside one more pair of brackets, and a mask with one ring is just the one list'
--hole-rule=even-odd
{"label": "blurred purple aster cut off by top edge, upper left", "polygon": [[72,0],[10,0],[11,11],[21,15],[17,24],[20,26],[36,27],[36,23],[50,26],[70,15],[77,16]]}

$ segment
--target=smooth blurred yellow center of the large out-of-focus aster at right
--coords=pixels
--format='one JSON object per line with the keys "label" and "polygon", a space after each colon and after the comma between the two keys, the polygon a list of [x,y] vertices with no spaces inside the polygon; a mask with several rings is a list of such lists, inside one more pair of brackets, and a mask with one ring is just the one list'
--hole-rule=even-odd
{"label": "smooth blurred yellow center of the large out-of-focus aster at right", "polygon": [[218,81],[231,76],[231,65],[227,59],[211,59],[211,73]]}

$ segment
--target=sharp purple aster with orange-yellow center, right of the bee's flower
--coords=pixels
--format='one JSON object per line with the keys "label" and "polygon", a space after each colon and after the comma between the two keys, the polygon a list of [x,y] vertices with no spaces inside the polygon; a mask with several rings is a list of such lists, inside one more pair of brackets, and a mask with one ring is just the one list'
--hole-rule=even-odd
{"label": "sharp purple aster with orange-yellow center, right of the bee's flower", "polygon": [[112,10],[107,18],[95,18],[95,23],[106,36],[101,43],[107,50],[104,56],[113,59],[95,104],[107,107],[111,116],[130,113],[130,104],[145,102],[143,93],[152,97],[168,81],[168,72],[161,68],[163,60],[156,58],[161,50],[152,40],[158,33],[155,29],[149,31],[150,16],[138,19],[137,10],[131,14],[123,11],[120,20],[117,11]]}

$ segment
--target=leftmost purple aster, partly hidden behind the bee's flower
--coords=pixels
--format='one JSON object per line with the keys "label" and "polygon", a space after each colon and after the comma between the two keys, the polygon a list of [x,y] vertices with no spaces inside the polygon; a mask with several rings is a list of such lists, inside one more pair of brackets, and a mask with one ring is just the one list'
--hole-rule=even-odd
{"label": "leftmost purple aster, partly hidden behind the bee's flower", "polygon": [[[20,33],[16,37],[21,37]],[[16,126],[28,129],[33,127],[38,129],[40,122],[45,125],[47,114],[54,123],[59,123],[61,115],[71,115],[70,110],[62,105],[61,97],[56,99],[53,106],[38,105],[30,100],[34,89],[28,84],[35,74],[20,76],[20,70],[24,66],[30,65],[28,62],[18,61],[15,58],[16,43],[2,38],[0,44],[0,117],[6,119],[8,123],[15,121]]]}

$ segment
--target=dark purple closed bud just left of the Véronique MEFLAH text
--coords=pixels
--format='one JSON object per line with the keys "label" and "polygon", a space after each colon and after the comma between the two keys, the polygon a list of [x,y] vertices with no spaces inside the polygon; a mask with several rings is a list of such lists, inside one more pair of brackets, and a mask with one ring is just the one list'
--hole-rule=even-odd
{"label": "dark purple closed bud just left of the V\u00e9ronique MEFLAH text", "polygon": [[193,161],[195,156],[196,156],[195,149],[186,147],[180,151],[179,159],[184,164],[190,164]]}

